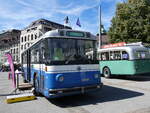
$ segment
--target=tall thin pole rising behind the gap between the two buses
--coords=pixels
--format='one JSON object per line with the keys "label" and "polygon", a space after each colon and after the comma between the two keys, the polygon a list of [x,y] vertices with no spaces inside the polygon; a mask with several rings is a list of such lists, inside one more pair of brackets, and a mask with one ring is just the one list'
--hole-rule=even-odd
{"label": "tall thin pole rising behind the gap between the two buses", "polygon": [[102,23],[102,21],[101,21],[101,0],[100,0],[100,4],[99,4],[99,49],[101,49],[101,43],[102,43],[102,41],[101,41],[101,33],[102,33],[102,31],[101,31],[101,23]]}

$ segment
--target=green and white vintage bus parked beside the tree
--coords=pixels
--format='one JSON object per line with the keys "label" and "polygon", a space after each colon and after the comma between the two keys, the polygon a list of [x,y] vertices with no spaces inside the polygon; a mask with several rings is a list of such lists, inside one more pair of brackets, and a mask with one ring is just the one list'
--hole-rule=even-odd
{"label": "green and white vintage bus parked beside the tree", "polygon": [[140,75],[150,73],[150,53],[141,44],[125,44],[98,50],[100,71],[111,75]]}

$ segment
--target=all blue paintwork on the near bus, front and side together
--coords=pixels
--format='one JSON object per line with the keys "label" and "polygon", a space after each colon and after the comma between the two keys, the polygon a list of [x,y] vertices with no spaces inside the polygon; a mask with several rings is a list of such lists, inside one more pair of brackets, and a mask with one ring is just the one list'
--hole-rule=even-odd
{"label": "all blue paintwork on the near bus, front and side together", "polygon": [[[24,68],[26,71],[27,68]],[[57,95],[51,95],[49,90],[53,89],[64,89],[64,88],[74,88],[74,87],[84,87],[90,85],[99,85],[101,83],[100,71],[86,71],[86,72],[68,72],[68,73],[48,73],[45,71],[31,69],[31,81],[33,82],[34,73],[38,74],[38,81],[40,81],[40,74],[44,76],[44,88],[40,88],[39,92],[42,93],[47,98],[55,98],[72,94],[79,94],[81,91],[62,93]],[[95,77],[96,75],[96,77]],[[63,81],[58,81],[58,77],[63,76]],[[25,72],[25,78],[27,78],[27,72]],[[93,91],[96,89],[91,89],[85,92]]]}

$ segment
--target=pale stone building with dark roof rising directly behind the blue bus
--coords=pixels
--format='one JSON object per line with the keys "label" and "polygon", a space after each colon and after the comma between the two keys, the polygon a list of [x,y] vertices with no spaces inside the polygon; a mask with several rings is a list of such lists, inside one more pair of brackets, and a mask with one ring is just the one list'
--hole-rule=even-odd
{"label": "pale stone building with dark roof rising directly behind the blue bus", "polygon": [[39,19],[37,21],[32,22],[28,27],[21,31],[21,39],[20,39],[20,54],[30,47],[33,42],[35,42],[42,34],[47,31],[51,31],[54,29],[71,29],[70,27],[64,27],[64,25],[46,20]]}

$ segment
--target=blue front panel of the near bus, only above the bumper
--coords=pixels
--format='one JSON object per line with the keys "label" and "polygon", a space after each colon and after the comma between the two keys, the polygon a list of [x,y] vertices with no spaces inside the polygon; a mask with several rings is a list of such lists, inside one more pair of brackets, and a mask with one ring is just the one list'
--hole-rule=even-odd
{"label": "blue front panel of the near bus, only above the bumper", "polygon": [[[82,75],[82,73],[84,75]],[[59,74],[62,74],[64,76],[64,81],[59,82],[56,80],[56,76]],[[99,71],[46,74],[47,80],[45,80],[45,86],[48,89],[58,89],[98,84],[100,83],[100,79],[95,79],[95,74],[99,74]]]}

